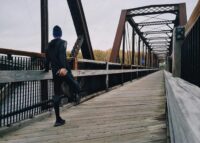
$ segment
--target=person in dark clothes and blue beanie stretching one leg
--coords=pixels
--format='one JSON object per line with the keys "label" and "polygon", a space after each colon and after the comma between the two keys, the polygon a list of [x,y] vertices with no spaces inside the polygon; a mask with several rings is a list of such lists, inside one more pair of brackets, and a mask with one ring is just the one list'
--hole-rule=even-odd
{"label": "person in dark clothes and blue beanie stretching one leg", "polygon": [[53,81],[54,81],[54,93],[53,103],[56,115],[56,122],[54,126],[61,126],[65,124],[65,120],[60,117],[59,105],[61,101],[62,89],[61,84],[66,82],[70,89],[75,94],[75,100],[79,103],[79,92],[80,87],[78,83],[74,80],[71,74],[70,67],[66,60],[66,48],[67,42],[62,40],[62,30],[59,26],[54,26],[53,28],[54,39],[49,43],[48,49],[46,51],[46,65],[45,71],[49,71],[49,62],[51,63]]}

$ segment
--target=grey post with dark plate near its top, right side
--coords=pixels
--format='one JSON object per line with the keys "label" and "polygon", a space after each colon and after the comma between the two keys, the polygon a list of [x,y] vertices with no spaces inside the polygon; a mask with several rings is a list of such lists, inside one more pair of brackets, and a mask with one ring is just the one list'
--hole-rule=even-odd
{"label": "grey post with dark plate near its top, right side", "polygon": [[184,41],[185,28],[175,27],[173,31],[172,75],[181,77],[181,47]]}

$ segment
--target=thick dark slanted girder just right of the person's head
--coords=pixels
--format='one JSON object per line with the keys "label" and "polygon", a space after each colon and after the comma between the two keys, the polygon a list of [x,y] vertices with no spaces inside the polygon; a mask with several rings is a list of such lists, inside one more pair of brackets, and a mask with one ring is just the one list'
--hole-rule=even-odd
{"label": "thick dark slanted girder just right of the person's head", "polygon": [[81,47],[84,59],[94,60],[94,54],[88,32],[81,0],[67,0],[72,15],[77,36],[83,35],[84,41]]}

